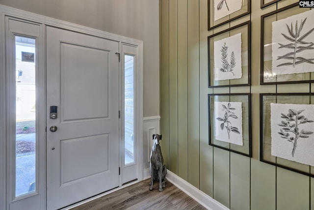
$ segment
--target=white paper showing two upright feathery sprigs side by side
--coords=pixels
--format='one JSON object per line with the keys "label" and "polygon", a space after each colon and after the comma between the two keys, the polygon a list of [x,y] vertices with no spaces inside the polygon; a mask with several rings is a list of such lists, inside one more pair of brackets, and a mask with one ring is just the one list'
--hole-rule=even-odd
{"label": "white paper showing two upright feathery sprigs side by side", "polygon": [[241,33],[214,42],[215,80],[242,77]]}

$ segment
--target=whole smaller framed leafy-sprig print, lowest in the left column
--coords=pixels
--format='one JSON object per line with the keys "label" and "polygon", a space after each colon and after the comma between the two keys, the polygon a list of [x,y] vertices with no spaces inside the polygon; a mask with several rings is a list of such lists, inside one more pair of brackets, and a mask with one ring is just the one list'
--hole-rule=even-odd
{"label": "whole smaller framed leafy-sprig print, lowest in the left column", "polygon": [[209,145],[252,156],[250,93],[209,94]]}

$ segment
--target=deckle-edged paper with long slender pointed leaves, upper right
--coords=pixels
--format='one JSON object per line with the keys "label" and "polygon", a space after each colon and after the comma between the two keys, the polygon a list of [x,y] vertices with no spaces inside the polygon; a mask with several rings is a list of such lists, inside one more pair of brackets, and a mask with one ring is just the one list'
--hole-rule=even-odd
{"label": "deckle-edged paper with long slender pointed leaves, upper right", "polygon": [[294,74],[314,71],[314,27],[310,10],[272,23],[272,71]]}

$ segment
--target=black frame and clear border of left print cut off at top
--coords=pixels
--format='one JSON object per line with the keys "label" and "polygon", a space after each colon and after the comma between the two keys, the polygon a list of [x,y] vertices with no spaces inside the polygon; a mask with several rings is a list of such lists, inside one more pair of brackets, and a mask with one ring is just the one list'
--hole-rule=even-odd
{"label": "black frame and clear border of left print cut off at top", "polygon": [[213,0],[208,0],[208,30],[215,29],[217,27],[220,27],[226,23],[229,23],[231,21],[234,21],[235,19],[238,19],[251,13],[251,0],[244,0],[244,3],[239,11],[236,11],[224,18],[214,21],[213,4],[214,4]]}

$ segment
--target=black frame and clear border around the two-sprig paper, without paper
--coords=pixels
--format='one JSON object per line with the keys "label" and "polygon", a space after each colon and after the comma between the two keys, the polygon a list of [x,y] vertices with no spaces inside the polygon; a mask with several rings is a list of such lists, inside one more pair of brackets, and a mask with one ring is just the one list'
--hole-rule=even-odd
{"label": "black frame and clear border around the two-sprig paper, without paper", "polygon": [[[214,41],[230,37],[241,32],[242,78],[214,80]],[[245,43],[245,46],[243,47]],[[251,21],[246,21],[230,29],[208,36],[208,87],[233,87],[251,85]]]}

